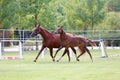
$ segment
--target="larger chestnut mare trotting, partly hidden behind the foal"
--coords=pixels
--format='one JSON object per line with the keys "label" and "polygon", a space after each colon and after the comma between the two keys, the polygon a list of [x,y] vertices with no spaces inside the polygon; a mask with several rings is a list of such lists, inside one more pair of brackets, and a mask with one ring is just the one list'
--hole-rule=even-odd
{"label": "larger chestnut mare trotting, partly hidden behind the foal", "polygon": [[[41,34],[43,41],[42,41],[42,47],[39,51],[39,53],[37,54],[34,62],[36,62],[36,60],[38,59],[39,55],[41,54],[41,52],[44,50],[44,48],[49,48],[50,50],[50,56],[52,57],[52,60],[55,61],[54,57],[53,57],[53,48],[59,48],[61,46],[61,40],[60,40],[60,34],[53,34],[51,32],[49,32],[48,30],[44,29],[43,27],[41,27],[40,25],[36,25],[34,30],[31,33],[31,36],[34,37],[37,34]],[[67,34],[67,36],[73,36],[72,34]],[[78,60],[77,58],[77,54],[76,54],[76,50],[74,49],[74,47],[70,47],[72,49],[72,51],[75,54],[76,60]],[[64,53],[67,52],[69,61],[70,61],[70,55],[69,55],[69,50],[66,50]]]}

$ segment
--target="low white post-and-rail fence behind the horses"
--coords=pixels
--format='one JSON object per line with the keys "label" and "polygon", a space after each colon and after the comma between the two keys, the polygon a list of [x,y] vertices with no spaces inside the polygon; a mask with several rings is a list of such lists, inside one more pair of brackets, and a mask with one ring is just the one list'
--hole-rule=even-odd
{"label": "low white post-and-rail fence behind the horses", "polygon": [[[28,40],[29,42],[36,42],[36,41],[31,41]],[[19,42],[19,52],[18,52],[18,57],[20,59],[23,58],[23,42],[21,40],[0,40],[0,59],[4,59],[4,56],[2,55],[2,42]],[[38,41],[37,41],[38,42]],[[41,42],[41,41],[39,41]],[[100,50],[101,50],[101,57],[108,57],[107,52],[106,52],[106,48],[105,48],[105,44],[103,42],[103,40],[96,40],[95,42],[99,42],[100,44]],[[43,50],[43,52],[41,53],[42,58],[44,58],[45,52],[47,49]],[[72,50],[70,50],[70,56],[72,57]]]}

